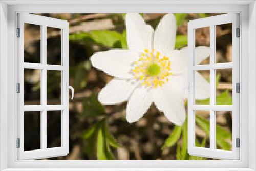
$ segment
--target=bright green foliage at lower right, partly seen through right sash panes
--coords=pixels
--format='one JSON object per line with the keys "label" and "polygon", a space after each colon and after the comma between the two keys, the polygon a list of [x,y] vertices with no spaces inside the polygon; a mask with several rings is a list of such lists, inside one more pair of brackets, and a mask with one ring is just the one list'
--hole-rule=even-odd
{"label": "bright green foliage at lower right, partly seen through right sash panes", "polygon": [[[217,86],[220,79],[220,75],[217,75]],[[197,100],[199,104],[209,104],[209,99],[205,100]],[[232,97],[229,95],[228,90],[221,93],[216,97],[217,105],[232,105]],[[209,120],[204,119],[196,115],[196,123],[198,126],[206,133],[207,137],[210,135],[210,123]],[[182,139],[182,144],[179,144],[179,139]],[[231,145],[227,142],[227,140],[232,138],[232,134],[225,130],[220,125],[216,125],[216,143],[217,145],[224,150],[230,150]],[[202,143],[200,144],[196,139],[196,146],[205,147],[206,137],[204,137]],[[187,153],[187,119],[182,126],[175,126],[173,132],[169,135],[169,137],[165,140],[163,148],[172,147],[177,144],[177,160],[204,160],[206,158],[198,157],[198,156],[189,156]]]}

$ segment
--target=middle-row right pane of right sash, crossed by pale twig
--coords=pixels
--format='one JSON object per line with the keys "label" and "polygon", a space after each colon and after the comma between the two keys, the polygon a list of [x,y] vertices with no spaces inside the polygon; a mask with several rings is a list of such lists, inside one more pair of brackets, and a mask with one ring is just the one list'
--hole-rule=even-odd
{"label": "middle-row right pane of right sash, crossed by pale twig", "polygon": [[232,105],[232,69],[216,70],[216,105]]}

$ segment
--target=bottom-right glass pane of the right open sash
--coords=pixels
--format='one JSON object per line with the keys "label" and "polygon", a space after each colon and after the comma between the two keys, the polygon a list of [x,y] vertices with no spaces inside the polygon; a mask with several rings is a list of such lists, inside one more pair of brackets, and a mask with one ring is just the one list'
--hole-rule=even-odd
{"label": "bottom-right glass pane of the right open sash", "polygon": [[232,112],[216,111],[216,148],[232,150]]}

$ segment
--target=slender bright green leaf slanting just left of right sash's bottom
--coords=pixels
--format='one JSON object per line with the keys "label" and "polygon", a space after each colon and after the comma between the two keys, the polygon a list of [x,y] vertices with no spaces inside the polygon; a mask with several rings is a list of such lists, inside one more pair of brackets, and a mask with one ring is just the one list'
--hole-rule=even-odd
{"label": "slender bright green leaf slanting just left of right sash's bottom", "polygon": [[180,138],[182,132],[182,126],[174,126],[174,130],[172,133],[169,135],[169,137],[165,140],[164,145],[162,146],[163,148],[166,147],[172,147]]}

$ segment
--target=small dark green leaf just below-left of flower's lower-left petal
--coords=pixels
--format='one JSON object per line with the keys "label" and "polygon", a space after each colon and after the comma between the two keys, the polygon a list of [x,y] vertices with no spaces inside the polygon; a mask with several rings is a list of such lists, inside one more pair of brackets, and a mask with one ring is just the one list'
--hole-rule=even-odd
{"label": "small dark green leaf just below-left of flower's lower-left petal", "polygon": [[105,114],[105,109],[95,93],[83,101],[83,114],[91,117]]}

